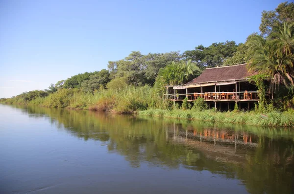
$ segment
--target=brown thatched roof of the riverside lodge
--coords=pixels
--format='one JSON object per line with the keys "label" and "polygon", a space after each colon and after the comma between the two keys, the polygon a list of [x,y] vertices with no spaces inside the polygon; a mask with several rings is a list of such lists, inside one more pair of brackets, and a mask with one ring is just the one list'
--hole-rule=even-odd
{"label": "brown thatched roof of the riverside lodge", "polygon": [[202,72],[201,75],[191,80],[187,84],[245,80],[247,77],[257,74],[257,72],[248,72],[246,66],[247,64],[241,64],[207,68]]}

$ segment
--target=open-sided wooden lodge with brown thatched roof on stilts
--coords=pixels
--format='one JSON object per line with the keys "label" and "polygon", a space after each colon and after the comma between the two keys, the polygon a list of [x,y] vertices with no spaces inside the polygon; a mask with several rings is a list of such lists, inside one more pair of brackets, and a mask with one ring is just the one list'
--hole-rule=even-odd
{"label": "open-sided wooden lodge with brown thatched roof on stilts", "polygon": [[[249,110],[258,103],[258,89],[249,83],[249,78],[257,72],[249,72],[247,64],[206,68],[202,74],[184,85],[166,86],[166,98],[174,103],[182,103],[187,97],[193,102],[202,97],[210,108],[232,110],[235,103],[240,109]],[[266,98],[273,96],[266,92]]]}

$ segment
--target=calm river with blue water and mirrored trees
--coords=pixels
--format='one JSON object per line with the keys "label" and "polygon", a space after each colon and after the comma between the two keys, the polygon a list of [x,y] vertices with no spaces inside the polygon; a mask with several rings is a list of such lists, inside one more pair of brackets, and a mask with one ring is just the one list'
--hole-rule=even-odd
{"label": "calm river with blue water and mirrored trees", "polygon": [[293,194],[294,129],[0,105],[1,194]]}

